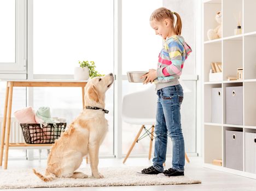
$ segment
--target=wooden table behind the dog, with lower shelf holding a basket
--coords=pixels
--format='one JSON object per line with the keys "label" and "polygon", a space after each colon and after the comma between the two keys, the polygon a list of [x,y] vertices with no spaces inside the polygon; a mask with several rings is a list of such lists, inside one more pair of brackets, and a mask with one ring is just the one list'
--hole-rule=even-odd
{"label": "wooden table behind the dog, with lower shelf holding a basket", "polygon": [[[1,152],[0,152],[0,166],[3,163],[3,151],[5,146],[4,156],[4,169],[7,169],[8,164],[8,151],[9,147],[33,147],[33,146],[52,146],[53,144],[25,144],[25,143],[9,143],[10,139],[10,124],[11,124],[11,106],[13,102],[13,87],[82,87],[82,103],[84,108],[84,88],[86,81],[74,81],[74,80],[13,80],[7,81],[6,93],[5,93],[5,105],[4,105],[4,116],[2,124],[2,135],[1,135]],[[5,137],[5,128],[7,128]],[[87,162],[88,158],[86,158]]]}

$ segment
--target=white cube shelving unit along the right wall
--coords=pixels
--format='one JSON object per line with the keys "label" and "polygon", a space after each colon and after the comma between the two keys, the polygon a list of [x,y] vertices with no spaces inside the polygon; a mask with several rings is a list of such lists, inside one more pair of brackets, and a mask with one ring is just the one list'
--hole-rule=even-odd
{"label": "white cube shelving unit along the right wall", "polygon": [[[256,133],[256,0],[205,0],[203,10],[203,157],[207,168],[256,179],[256,174],[245,170],[245,133]],[[222,38],[208,40],[208,29],[216,28],[214,17],[222,11]],[[241,13],[242,34],[234,35],[237,26],[234,14]],[[220,81],[209,81],[211,62],[222,62]],[[236,76],[237,68],[243,68],[243,79],[228,81],[227,76]],[[225,88],[243,87],[243,124],[226,124]],[[212,88],[221,88],[221,123],[212,123]],[[225,166],[225,130],[243,132],[243,170]],[[256,144],[256,143],[255,143]],[[222,159],[222,166],[213,165],[214,159]]]}

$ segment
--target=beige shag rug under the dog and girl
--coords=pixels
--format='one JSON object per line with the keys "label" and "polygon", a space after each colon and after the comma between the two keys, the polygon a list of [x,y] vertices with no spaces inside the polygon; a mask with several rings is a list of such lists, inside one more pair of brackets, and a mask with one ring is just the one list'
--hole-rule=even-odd
{"label": "beige shag rug under the dog and girl", "polygon": [[[158,177],[156,175],[137,175],[143,167],[119,167],[100,168],[104,178],[91,177],[90,168],[82,168],[78,171],[88,175],[85,179],[57,178],[52,182],[43,182],[33,174],[32,169],[0,170],[0,189],[7,188],[42,188],[42,187],[103,187],[103,186],[146,186],[169,184],[196,184],[200,180],[194,180],[187,176]],[[44,174],[43,169],[36,169]]]}

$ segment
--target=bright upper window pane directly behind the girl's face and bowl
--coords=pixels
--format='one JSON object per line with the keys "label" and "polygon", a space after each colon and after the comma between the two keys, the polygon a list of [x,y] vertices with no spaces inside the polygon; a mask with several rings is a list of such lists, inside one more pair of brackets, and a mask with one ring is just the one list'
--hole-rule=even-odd
{"label": "bright upper window pane directly behind the girl's face and bowl", "polygon": [[129,0],[122,3],[123,74],[155,68],[162,41],[150,27],[149,18],[155,9],[162,7],[162,1]]}

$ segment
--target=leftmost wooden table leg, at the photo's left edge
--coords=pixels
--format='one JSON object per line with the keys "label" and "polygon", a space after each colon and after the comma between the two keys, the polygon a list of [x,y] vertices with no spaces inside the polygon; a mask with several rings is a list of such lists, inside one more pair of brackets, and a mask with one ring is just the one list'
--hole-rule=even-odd
{"label": "leftmost wooden table leg, at the photo's left edge", "polygon": [[5,127],[6,127],[7,108],[8,108],[8,97],[9,97],[9,86],[8,86],[8,82],[7,82],[7,87],[6,87],[6,92],[5,92],[2,135],[1,135],[0,166],[2,166],[2,164],[3,164],[3,150],[4,150]]}

